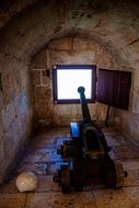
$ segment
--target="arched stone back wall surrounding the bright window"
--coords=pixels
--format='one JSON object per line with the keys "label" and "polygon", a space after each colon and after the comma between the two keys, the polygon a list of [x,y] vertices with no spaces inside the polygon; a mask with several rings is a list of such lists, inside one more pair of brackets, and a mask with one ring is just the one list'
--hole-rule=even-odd
{"label": "arched stone back wall surrounding the bright window", "polygon": [[[51,70],[55,65],[96,65],[97,68],[116,69],[114,58],[92,39],[65,37],[50,42],[31,62],[36,126],[49,124],[65,126],[70,122],[82,119],[79,104],[53,103]],[[89,107],[93,119],[105,120],[106,105],[95,103],[90,104]]]}

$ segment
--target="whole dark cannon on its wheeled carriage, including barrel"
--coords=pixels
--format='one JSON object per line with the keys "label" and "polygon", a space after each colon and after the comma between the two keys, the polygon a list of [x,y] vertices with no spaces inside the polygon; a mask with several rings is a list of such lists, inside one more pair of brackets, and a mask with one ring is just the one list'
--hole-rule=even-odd
{"label": "whole dark cannon on its wheeled carriage, including barrel", "polygon": [[91,184],[120,188],[127,176],[121,162],[111,153],[102,129],[91,119],[84,91],[83,86],[78,88],[83,119],[70,123],[70,138],[57,150],[62,162],[54,181],[59,183],[62,193],[71,188],[81,192]]}

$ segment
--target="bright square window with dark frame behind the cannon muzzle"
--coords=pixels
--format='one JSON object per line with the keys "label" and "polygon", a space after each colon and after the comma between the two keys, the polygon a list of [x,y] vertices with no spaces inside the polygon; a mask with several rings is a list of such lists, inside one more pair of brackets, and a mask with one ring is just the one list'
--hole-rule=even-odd
{"label": "bright square window with dark frame behind the cannon muzzle", "polygon": [[55,103],[79,103],[79,86],[85,88],[88,102],[95,97],[96,67],[92,65],[58,65],[53,69]]}

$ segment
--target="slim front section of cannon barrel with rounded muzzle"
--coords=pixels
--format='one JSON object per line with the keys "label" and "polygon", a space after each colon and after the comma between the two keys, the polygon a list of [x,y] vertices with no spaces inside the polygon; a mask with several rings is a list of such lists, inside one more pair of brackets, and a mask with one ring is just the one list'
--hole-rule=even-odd
{"label": "slim front section of cannon barrel with rounded muzzle", "polygon": [[82,116],[83,116],[83,120],[91,122],[91,116],[90,116],[89,107],[88,107],[88,104],[86,104],[86,99],[85,99],[84,91],[85,91],[85,89],[83,86],[78,88],[78,92],[80,94],[80,103],[81,103],[81,108],[82,108]]}

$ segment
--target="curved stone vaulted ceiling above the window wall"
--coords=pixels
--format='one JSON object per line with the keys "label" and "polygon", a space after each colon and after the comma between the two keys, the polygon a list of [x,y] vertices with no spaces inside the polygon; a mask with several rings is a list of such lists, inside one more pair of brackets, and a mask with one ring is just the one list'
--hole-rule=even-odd
{"label": "curved stone vaulted ceiling above the window wall", "polygon": [[0,58],[28,61],[51,39],[97,41],[121,67],[139,63],[139,3],[111,0],[4,0],[0,14]]}

